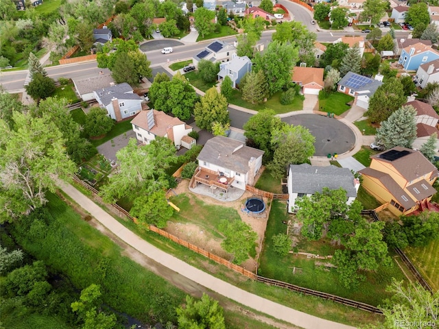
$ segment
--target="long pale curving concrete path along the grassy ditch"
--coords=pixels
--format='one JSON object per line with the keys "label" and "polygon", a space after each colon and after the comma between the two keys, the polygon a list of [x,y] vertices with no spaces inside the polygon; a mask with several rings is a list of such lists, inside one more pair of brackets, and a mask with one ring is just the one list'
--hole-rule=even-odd
{"label": "long pale curving concrete path along the grassy ditch", "polygon": [[141,239],[139,236],[125,228],[116,219],[111,217],[107,212],[99,208],[91,199],[80,193],[76,188],[70,184],[58,181],[58,186],[77,202],[84,210],[88,211],[91,216],[95,217],[99,223],[102,223],[108,230],[116,234],[119,239],[134,247],[145,256],[155,260],[157,263],[180,273],[182,276],[198,282],[202,286],[220,293],[225,297],[234,300],[244,306],[258,310],[259,312],[270,315],[276,319],[286,321],[290,324],[300,326],[305,329],[354,329],[355,327],[338,324],[337,322],[320,319],[313,315],[288,308],[281,304],[265,300],[262,297],[248,293],[239,289],[232,284],[228,284],[223,280],[219,280],[209,273],[205,273],[200,269],[196,269],[182,260],[171,256],[160,249],[157,249],[150,243]]}

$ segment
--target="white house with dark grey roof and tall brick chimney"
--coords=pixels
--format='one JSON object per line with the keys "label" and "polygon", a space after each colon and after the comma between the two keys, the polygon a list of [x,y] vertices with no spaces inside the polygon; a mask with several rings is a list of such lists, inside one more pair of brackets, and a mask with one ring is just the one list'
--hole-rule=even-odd
{"label": "white house with dark grey roof and tall brick chimney", "polygon": [[131,86],[126,82],[94,90],[93,93],[99,106],[105,108],[108,116],[113,120],[122,121],[142,110],[142,99],[134,94]]}

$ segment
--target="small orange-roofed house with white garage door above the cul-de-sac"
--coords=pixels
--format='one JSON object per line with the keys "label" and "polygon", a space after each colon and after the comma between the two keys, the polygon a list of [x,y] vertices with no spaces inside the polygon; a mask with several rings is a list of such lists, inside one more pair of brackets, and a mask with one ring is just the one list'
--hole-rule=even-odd
{"label": "small orange-roofed house with white garage door above the cul-de-sac", "polygon": [[318,67],[296,66],[293,69],[292,81],[302,88],[302,94],[318,95],[324,87],[323,72],[324,69]]}

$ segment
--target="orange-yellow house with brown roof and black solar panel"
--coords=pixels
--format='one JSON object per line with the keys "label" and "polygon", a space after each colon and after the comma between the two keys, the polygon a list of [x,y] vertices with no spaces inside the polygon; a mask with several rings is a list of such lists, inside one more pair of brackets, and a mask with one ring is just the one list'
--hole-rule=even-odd
{"label": "orange-yellow house with brown roof and black solar panel", "polygon": [[361,186],[396,216],[439,211],[431,204],[439,171],[420,151],[393,147],[372,156],[370,166],[359,173]]}

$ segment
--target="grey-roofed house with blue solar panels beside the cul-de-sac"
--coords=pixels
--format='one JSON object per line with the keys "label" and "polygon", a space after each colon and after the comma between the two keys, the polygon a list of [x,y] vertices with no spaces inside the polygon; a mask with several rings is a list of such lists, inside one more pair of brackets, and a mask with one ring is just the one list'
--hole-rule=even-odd
{"label": "grey-roofed house with blue solar panels beside the cul-de-sac", "polygon": [[375,79],[365,77],[349,71],[342,80],[337,83],[337,91],[355,98],[354,104],[360,108],[368,109],[369,100],[375,94],[378,87],[383,84],[382,75],[375,75]]}

